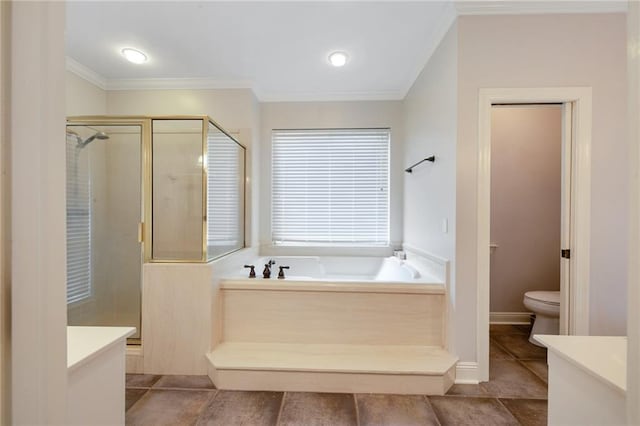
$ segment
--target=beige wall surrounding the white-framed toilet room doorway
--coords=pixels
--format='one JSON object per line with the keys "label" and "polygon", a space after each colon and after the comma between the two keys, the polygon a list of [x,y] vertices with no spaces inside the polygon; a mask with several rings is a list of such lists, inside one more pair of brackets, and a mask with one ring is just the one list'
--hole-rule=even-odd
{"label": "beige wall surrounding the white-framed toilet room doorway", "polygon": [[[597,28],[597,31],[594,31]],[[478,89],[593,88],[591,317],[593,334],[624,334],[627,146],[625,17],[463,16],[458,20],[456,281],[460,323],[476,320]],[[475,359],[475,328],[456,339]]]}

